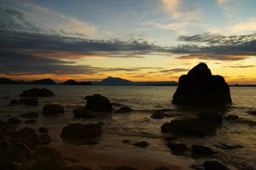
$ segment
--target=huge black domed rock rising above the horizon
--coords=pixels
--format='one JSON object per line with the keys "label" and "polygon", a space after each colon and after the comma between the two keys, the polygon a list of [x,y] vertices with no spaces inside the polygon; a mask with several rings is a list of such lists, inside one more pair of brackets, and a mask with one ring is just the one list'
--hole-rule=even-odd
{"label": "huge black domed rock rising above the horizon", "polygon": [[212,75],[205,63],[196,65],[179,78],[172,103],[182,105],[226,105],[232,103],[224,77]]}

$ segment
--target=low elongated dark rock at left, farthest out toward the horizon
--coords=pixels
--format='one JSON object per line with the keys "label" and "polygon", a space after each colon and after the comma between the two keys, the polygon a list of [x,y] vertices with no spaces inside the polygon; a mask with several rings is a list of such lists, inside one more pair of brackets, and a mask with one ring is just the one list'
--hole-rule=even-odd
{"label": "low elongated dark rock at left, farthest out toward the horizon", "polygon": [[20,97],[50,97],[53,96],[54,93],[50,91],[49,89],[28,89],[24,90],[22,94],[20,94]]}

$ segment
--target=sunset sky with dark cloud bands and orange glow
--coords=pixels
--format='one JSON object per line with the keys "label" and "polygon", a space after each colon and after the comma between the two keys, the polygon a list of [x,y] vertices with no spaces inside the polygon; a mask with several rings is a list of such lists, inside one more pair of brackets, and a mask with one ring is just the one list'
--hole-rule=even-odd
{"label": "sunset sky with dark cloud bands and orange glow", "polygon": [[0,77],[256,84],[255,0],[0,0]]}

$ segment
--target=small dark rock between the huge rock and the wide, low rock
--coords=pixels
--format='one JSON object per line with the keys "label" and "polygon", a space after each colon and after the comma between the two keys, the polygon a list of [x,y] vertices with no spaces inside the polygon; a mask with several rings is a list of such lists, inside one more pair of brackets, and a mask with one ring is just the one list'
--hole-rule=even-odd
{"label": "small dark rock between the huge rock and the wide, low rock", "polygon": [[222,124],[222,116],[219,113],[201,112],[197,114],[197,118],[207,120],[212,124]]}

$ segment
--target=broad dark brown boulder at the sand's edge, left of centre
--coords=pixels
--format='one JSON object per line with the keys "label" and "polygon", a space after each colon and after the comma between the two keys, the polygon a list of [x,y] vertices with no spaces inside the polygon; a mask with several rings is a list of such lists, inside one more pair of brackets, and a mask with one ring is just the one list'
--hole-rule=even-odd
{"label": "broad dark brown boulder at the sand's edge, left of centre", "polygon": [[68,142],[83,143],[102,134],[100,124],[70,124],[63,128],[61,138]]}

